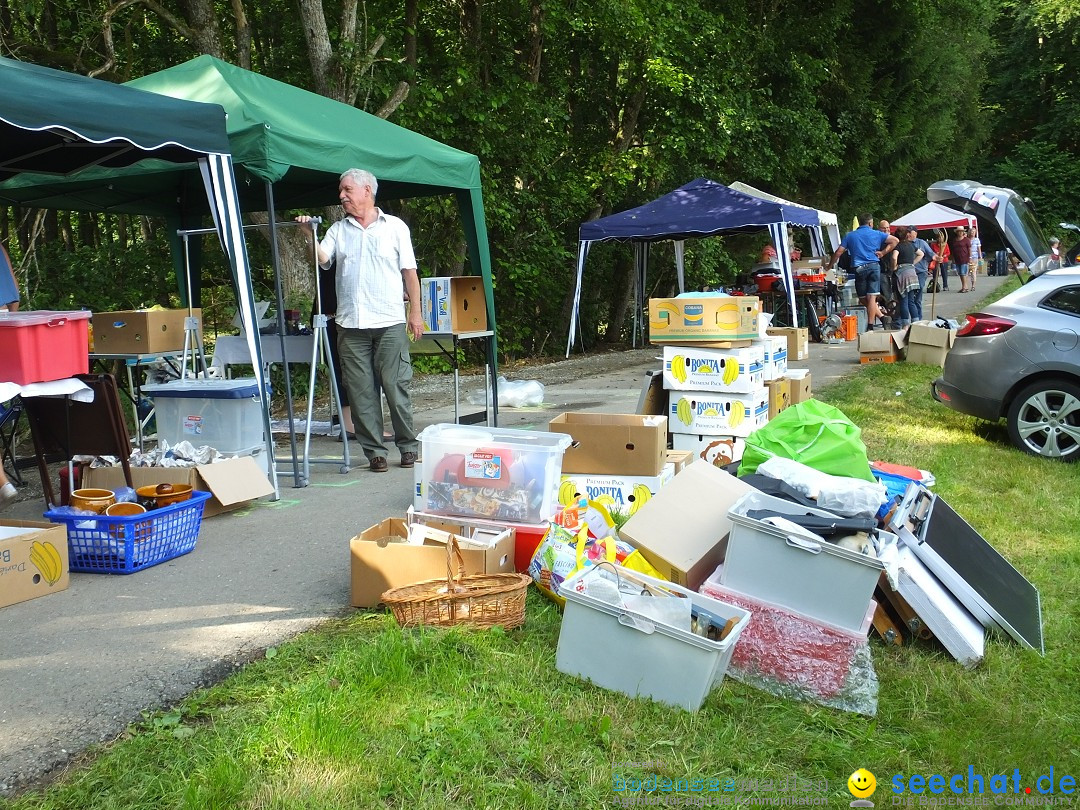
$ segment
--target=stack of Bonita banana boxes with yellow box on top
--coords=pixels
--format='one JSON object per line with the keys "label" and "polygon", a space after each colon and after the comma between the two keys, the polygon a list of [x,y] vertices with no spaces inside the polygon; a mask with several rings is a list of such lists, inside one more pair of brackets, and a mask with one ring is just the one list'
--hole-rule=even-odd
{"label": "stack of Bonita banana boxes with yellow box on top", "polygon": [[789,402],[787,339],[762,336],[753,296],[649,300],[649,339],[663,347],[672,448],[724,467]]}

